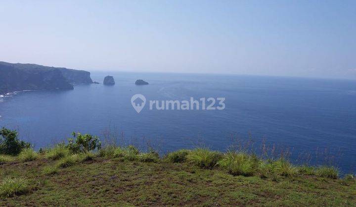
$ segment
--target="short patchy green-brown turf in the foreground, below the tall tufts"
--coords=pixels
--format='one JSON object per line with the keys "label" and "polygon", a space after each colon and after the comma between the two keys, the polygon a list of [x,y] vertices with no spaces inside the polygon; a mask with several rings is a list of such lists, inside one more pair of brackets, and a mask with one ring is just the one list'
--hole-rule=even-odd
{"label": "short patchy green-brown turf in the foreground, below the tall tufts", "polygon": [[[1,165],[1,183],[9,176],[21,176],[28,181],[21,185],[25,186],[23,190],[7,191],[12,192],[9,196],[22,195],[7,197],[6,193],[0,206],[353,206],[356,203],[356,181],[351,179],[294,174],[277,175],[276,181],[271,177],[234,176],[218,166],[210,170],[189,162],[122,162],[107,157],[78,162],[50,176],[43,173],[45,167],[56,162],[40,156],[36,162],[14,160]],[[274,162],[265,164],[273,166]]]}

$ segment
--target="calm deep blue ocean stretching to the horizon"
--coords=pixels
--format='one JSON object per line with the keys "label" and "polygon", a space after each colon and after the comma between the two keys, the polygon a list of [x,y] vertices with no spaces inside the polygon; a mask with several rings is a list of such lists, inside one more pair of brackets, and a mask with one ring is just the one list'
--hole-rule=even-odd
{"label": "calm deep blue ocean stretching to the horizon", "polygon": [[[114,76],[114,86],[102,84],[106,75]],[[222,151],[234,146],[356,172],[356,81],[128,72],[92,72],[91,77],[100,84],[0,97],[0,126],[19,130],[36,148],[77,131],[161,153],[197,145]],[[136,79],[149,85],[136,86]],[[146,103],[137,113],[131,104],[134,94],[147,102],[224,97],[225,109],[149,110]]]}

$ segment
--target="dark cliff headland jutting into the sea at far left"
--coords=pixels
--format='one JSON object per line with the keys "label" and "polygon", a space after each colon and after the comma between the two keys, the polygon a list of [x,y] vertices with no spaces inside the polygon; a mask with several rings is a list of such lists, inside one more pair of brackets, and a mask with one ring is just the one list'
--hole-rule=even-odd
{"label": "dark cliff headland jutting into the sea at far left", "polygon": [[92,83],[90,72],[36,64],[0,62],[0,94],[23,90],[68,90]]}

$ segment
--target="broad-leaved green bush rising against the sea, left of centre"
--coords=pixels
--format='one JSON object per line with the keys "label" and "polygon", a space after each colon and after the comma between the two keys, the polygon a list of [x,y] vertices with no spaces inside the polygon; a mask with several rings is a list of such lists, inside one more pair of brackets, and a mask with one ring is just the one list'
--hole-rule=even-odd
{"label": "broad-leaved green bush rising against the sea, left of centre", "polygon": [[101,141],[98,137],[92,135],[80,133],[72,133],[73,138],[68,139],[68,149],[73,153],[86,152],[90,150],[100,149]]}

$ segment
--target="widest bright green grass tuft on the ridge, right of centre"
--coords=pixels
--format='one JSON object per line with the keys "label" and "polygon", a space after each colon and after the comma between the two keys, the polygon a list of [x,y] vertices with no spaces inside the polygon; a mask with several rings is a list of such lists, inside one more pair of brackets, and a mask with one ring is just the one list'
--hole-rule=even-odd
{"label": "widest bright green grass tuft on the ridge, right of centre", "polygon": [[258,166],[258,159],[243,152],[227,152],[218,165],[232,175],[251,176]]}

